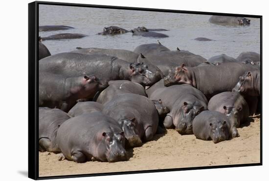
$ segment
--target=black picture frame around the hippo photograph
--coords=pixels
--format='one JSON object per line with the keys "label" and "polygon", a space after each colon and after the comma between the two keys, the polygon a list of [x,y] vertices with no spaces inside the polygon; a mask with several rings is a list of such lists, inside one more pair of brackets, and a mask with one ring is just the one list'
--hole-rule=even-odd
{"label": "black picture frame around the hippo photograph", "polygon": [[[263,164],[263,145],[262,145],[262,126],[263,126],[263,94],[261,88],[261,121],[260,121],[260,163],[249,164],[235,164],[235,165],[219,165],[219,166],[202,166],[202,167],[188,167],[188,168],[173,168],[160,170],[142,170],[142,171],[127,171],[127,172],[112,172],[112,173],[98,173],[98,174],[82,174],[82,175],[67,175],[67,176],[51,176],[39,177],[39,150],[38,150],[38,40],[39,40],[39,5],[60,5],[60,6],[77,6],[77,7],[95,7],[104,9],[122,9],[122,10],[139,10],[139,11],[156,11],[156,12],[170,12],[170,13],[187,13],[199,15],[221,15],[221,16],[237,16],[260,19],[260,55],[261,55],[261,73],[263,67],[262,60],[262,19],[260,15],[243,15],[243,14],[226,14],[226,13],[212,13],[212,12],[198,12],[198,11],[181,11],[181,10],[167,10],[167,9],[152,9],[152,8],[137,8],[137,7],[122,7],[122,6],[107,6],[107,5],[92,5],[92,4],[77,4],[77,3],[63,3],[63,2],[47,2],[34,1],[28,4],[28,177],[34,180],[45,179],[60,179],[60,178],[76,178],[89,176],[107,176],[120,174],[137,174],[137,173],[151,173],[151,172],[168,172],[180,170],[196,170],[209,168],[226,168],[226,167],[243,167],[243,166],[258,166]],[[262,77],[261,77],[261,87]]]}

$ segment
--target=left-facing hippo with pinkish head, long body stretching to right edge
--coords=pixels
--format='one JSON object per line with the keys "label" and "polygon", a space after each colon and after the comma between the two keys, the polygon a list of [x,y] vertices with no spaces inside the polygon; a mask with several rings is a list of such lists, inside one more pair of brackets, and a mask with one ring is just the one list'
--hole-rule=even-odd
{"label": "left-facing hippo with pinkish head, long body stretching to right edge", "polygon": [[199,89],[209,100],[221,92],[232,91],[240,75],[255,69],[257,68],[253,65],[239,62],[197,67],[186,67],[182,64],[169,70],[168,76],[164,78],[164,85],[188,83]]}

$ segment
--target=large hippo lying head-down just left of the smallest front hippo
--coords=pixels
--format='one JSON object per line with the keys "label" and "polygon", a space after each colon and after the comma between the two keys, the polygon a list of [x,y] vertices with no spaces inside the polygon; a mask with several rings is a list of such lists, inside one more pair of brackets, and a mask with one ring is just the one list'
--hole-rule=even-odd
{"label": "large hippo lying head-down just left of the smallest front hippo", "polygon": [[170,109],[164,120],[167,129],[176,128],[181,134],[192,134],[192,121],[203,110],[207,110],[207,100],[201,91],[191,85],[173,85],[159,88],[150,96],[151,100],[161,99]]}

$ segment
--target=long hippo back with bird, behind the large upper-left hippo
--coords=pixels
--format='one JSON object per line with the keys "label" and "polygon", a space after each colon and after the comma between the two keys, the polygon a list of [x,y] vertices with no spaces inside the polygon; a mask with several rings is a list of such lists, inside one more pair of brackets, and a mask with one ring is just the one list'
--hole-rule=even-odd
{"label": "long hippo back with bird, behind the large upper-left hippo", "polygon": [[161,77],[164,76],[161,70],[156,65],[154,65],[150,60],[147,60],[147,58],[145,58],[142,54],[136,54],[129,50],[79,47],[79,49],[77,48],[77,50],[73,50],[71,52],[85,55],[92,55],[92,54],[110,55],[128,62],[145,63],[150,71],[160,72]]}

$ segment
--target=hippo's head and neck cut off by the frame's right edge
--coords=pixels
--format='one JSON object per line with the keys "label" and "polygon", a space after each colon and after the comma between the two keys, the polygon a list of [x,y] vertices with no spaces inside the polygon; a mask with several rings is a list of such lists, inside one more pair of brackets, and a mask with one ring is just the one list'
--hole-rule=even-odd
{"label": "hippo's head and neck cut off by the frame's right edge", "polygon": [[260,84],[260,70],[247,71],[239,77],[239,82],[233,88],[233,91],[246,96],[260,96]]}

